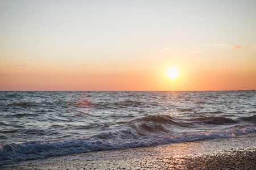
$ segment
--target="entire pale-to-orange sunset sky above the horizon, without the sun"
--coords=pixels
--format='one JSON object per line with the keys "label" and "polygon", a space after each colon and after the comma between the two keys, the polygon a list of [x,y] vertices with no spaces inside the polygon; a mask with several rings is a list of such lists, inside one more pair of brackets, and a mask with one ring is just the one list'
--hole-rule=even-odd
{"label": "entire pale-to-orange sunset sky above the horizon, without the sun", "polygon": [[0,91],[256,90],[255,8],[0,0]]}

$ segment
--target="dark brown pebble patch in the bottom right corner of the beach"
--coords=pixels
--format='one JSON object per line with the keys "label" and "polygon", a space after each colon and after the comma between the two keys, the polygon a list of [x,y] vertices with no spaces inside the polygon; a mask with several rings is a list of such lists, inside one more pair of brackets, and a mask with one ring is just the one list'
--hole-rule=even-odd
{"label": "dark brown pebble patch in the bottom right corner of the beach", "polygon": [[[163,158],[166,169],[256,169],[256,150],[217,152],[197,156]],[[169,166],[167,168],[167,166]]]}

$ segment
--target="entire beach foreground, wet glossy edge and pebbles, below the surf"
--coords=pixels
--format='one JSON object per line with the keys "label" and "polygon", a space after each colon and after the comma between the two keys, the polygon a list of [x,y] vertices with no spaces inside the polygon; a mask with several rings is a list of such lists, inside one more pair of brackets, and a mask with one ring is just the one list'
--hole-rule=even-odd
{"label": "entire beach foreground, wet glossy edge and pebbles, below the surf", "polygon": [[[55,156],[1,169],[256,169],[256,135]],[[218,146],[217,146],[218,145]]]}

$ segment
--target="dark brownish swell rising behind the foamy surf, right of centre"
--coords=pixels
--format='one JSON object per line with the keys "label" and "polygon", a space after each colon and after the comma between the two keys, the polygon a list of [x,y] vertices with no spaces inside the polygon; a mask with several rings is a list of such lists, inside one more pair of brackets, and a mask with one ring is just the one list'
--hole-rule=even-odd
{"label": "dark brownish swell rising behind the foamy surf, right of centre", "polygon": [[[251,117],[248,120],[252,120]],[[246,121],[246,123],[251,121]],[[188,131],[193,128],[204,128],[205,125],[238,125],[240,121],[226,117],[207,116],[200,118],[174,118],[169,115],[150,115],[146,117],[136,118],[126,124],[133,129],[138,135],[143,137],[159,136],[163,134],[175,134]],[[225,128],[225,126],[222,126]]]}

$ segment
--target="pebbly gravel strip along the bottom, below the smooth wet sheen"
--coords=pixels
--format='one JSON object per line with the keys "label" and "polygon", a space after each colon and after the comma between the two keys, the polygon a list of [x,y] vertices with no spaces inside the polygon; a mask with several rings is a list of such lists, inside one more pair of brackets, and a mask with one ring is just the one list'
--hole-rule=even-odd
{"label": "pebbly gravel strip along the bottom, below the smooth wet sheen", "polygon": [[256,147],[162,158],[31,161],[0,169],[256,169]]}

